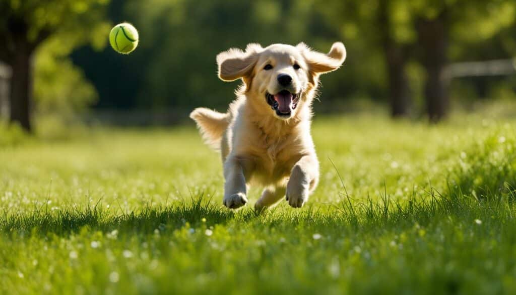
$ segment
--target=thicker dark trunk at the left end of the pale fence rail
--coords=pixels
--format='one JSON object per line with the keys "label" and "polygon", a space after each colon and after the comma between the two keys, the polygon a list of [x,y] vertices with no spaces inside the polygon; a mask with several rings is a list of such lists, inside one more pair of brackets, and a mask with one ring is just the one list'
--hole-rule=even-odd
{"label": "thicker dark trunk at the left end of the pale fence rail", "polygon": [[437,122],[446,116],[449,105],[444,79],[448,46],[445,13],[432,20],[419,20],[417,34],[422,46],[422,64],[427,73],[424,90],[427,113],[430,121]]}

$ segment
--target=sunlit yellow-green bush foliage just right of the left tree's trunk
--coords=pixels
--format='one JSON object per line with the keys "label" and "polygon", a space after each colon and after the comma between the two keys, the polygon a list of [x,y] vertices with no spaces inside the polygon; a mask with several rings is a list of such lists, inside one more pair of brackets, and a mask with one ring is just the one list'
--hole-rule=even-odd
{"label": "sunlit yellow-green bush foliage just right of the left tree's trunk", "polygon": [[[82,69],[72,63],[69,55],[83,44],[104,48],[109,29],[109,23],[101,22],[92,25],[90,30],[83,29],[85,32],[81,36],[77,36],[74,30],[64,30],[40,45],[34,72],[34,100],[40,131],[49,130],[47,126],[41,126],[49,121],[58,121],[65,128],[79,123],[80,115],[98,100],[95,87],[86,79]],[[43,136],[49,137],[47,135]],[[55,133],[50,137],[55,136],[60,135]]]}

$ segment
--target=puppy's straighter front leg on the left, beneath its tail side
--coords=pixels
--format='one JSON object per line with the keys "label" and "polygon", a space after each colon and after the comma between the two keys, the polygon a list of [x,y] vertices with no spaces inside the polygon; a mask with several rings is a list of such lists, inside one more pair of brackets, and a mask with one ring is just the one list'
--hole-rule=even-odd
{"label": "puppy's straighter front leg on the left, beneath its tail side", "polygon": [[250,163],[237,157],[224,162],[224,206],[236,209],[247,203],[246,176],[250,176]]}

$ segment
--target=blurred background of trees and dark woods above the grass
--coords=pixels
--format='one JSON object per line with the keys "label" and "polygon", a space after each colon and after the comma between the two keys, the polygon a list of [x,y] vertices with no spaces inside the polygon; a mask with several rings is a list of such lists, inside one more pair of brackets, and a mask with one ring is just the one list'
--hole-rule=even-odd
{"label": "blurred background of trees and dark woods above the grass", "polygon": [[[224,111],[237,83],[215,56],[304,41],[347,60],[322,77],[317,114],[378,112],[438,122],[516,100],[514,0],[0,0],[0,121],[41,126],[172,125]],[[109,48],[112,25],[140,33]],[[481,107],[480,107],[481,108]],[[14,126],[14,127],[13,127]]]}

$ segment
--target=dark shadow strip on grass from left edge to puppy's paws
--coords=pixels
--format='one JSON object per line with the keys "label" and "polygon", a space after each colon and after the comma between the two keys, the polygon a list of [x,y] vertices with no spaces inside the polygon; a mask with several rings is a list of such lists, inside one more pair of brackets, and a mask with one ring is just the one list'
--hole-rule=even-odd
{"label": "dark shadow strip on grass from left edge to puppy's paws", "polygon": [[222,210],[219,206],[205,200],[201,195],[192,199],[191,203],[182,201],[180,204],[167,207],[145,207],[138,212],[113,214],[103,209],[102,204],[72,210],[49,212],[46,209],[36,209],[30,214],[8,214],[0,217],[0,232],[17,233],[30,232],[36,235],[54,233],[68,235],[88,226],[94,230],[110,231],[117,229],[122,232],[149,232],[156,228],[167,226],[179,228],[187,222],[196,225],[202,219],[213,223],[226,223],[233,219],[235,213]]}

